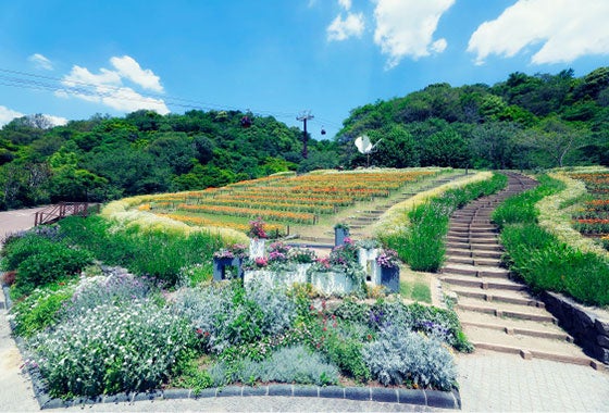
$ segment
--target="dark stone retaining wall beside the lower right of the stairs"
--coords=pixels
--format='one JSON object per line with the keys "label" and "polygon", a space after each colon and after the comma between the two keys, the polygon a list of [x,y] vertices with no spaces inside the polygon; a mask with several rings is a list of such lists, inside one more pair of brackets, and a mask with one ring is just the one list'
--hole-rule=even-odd
{"label": "dark stone retaining wall beside the lower right of the stairs", "polygon": [[609,364],[609,316],[598,315],[594,309],[556,292],[545,291],[542,299],[579,346],[591,356]]}

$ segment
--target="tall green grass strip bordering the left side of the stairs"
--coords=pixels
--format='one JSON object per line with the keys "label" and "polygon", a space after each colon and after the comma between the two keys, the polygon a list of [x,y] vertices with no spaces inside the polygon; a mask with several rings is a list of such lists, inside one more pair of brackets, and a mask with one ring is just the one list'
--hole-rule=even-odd
{"label": "tall green grass strip bordering the left side of the stairs", "polygon": [[381,239],[412,270],[435,273],[444,262],[444,237],[448,233],[450,215],[474,199],[501,190],[507,182],[505,175],[495,174],[488,180],[449,189],[407,212],[402,217],[407,224],[403,229],[381,235]]}

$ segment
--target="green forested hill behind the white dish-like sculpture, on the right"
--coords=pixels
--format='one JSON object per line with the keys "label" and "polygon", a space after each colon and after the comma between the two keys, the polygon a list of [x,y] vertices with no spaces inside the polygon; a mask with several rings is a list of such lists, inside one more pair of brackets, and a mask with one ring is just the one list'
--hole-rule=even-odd
{"label": "green forested hill behind the white dish-like sculpture, on the right", "polygon": [[511,74],[494,86],[430,85],[403,98],[353,109],[338,141],[361,164],[352,140],[383,139],[375,165],[550,167],[609,164],[609,67],[575,78]]}

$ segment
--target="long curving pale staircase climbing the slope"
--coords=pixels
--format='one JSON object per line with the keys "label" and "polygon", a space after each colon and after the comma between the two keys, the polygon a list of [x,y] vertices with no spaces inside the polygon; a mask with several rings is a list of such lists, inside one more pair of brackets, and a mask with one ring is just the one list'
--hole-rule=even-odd
{"label": "long curving pale staircase climbing the slope", "polygon": [[457,296],[455,310],[477,349],[597,366],[557,325],[527,287],[501,266],[502,249],[490,213],[506,198],[536,185],[508,174],[507,189],[455,212],[446,238],[443,289]]}

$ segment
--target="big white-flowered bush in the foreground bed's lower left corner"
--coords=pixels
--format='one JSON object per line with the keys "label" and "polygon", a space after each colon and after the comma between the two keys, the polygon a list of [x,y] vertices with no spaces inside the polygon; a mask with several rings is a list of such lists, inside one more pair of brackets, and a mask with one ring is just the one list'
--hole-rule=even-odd
{"label": "big white-flowered bush in the foreground bed's lower left corner", "polygon": [[101,304],[28,342],[49,393],[98,396],[158,388],[195,347],[192,329],[151,300]]}

